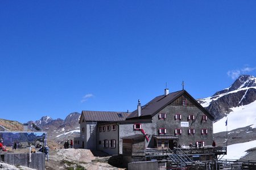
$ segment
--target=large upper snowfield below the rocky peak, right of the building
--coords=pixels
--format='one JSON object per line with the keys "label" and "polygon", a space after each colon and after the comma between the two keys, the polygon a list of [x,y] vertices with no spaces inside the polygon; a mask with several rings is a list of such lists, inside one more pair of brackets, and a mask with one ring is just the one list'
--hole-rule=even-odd
{"label": "large upper snowfield below the rocky peak, right of the building", "polygon": [[[228,114],[228,131],[246,126],[256,128],[256,101],[231,109],[232,112]],[[223,117],[217,122],[214,122],[213,133],[226,131],[226,119],[226,117]]]}

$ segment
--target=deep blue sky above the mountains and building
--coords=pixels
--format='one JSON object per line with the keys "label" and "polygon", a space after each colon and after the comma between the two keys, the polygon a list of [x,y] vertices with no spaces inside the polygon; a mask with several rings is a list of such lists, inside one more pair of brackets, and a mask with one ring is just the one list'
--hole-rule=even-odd
{"label": "deep blue sky above the mountains and building", "polygon": [[256,75],[256,1],[1,1],[0,118],[133,111]]}

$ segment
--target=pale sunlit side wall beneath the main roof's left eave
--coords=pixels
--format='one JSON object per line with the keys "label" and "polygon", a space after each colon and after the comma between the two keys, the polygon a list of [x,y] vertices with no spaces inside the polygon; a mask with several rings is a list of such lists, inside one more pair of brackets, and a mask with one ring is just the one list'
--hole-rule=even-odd
{"label": "pale sunlit side wall beneath the main roof's left eave", "polygon": [[119,125],[119,154],[122,154],[123,137],[129,137],[134,134],[142,134],[140,130],[134,130],[134,124],[139,123],[147,134],[149,141],[145,139],[145,147],[152,145],[152,135],[156,133],[156,122],[135,120],[134,122],[126,122]]}

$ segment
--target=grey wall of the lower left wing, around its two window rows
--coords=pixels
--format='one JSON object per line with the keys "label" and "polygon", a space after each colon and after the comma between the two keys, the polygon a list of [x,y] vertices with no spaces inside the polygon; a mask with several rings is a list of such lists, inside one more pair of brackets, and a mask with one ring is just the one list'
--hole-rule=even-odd
{"label": "grey wall of the lower left wing, around its two window rows", "polygon": [[[110,155],[117,155],[118,154],[118,125],[116,125],[116,130],[112,129],[112,126],[115,124],[107,124],[107,125],[98,125],[97,128],[97,150],[102,150],[104,152],[107,152]],[[98,129],[100,127],[105,126],[105,131],[99,131]],[[110,126],[110,131],[108,131],[107,126]],[[107,139],[108,140],[108,148],[103,147],[103,141]],[[110,140],[115,139],[115,148],[110,148]],[[99,144],[99,141],[101,141],[101,144]]]}

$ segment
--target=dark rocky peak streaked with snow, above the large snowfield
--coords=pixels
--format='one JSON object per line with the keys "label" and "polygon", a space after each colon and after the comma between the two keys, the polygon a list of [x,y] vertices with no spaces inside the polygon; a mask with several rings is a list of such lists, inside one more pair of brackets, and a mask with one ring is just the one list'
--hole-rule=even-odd
{"label": "dark rocky peak streaked with snow, above the large snowfield", "polygon": [[241,75],[229,88],[197,101],[214,116],[215,120],[220,120],[232,112],[231,108],[247,105],[255,100],[256,78]]}

